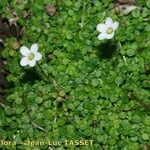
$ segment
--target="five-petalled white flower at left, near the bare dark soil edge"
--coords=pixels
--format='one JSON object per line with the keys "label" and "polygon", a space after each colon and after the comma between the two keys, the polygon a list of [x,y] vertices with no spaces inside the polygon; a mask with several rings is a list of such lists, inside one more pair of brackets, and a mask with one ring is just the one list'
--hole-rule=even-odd
{"label": "five-petalled white flower at left, near the bare dark soil edge", "polygon": [[34,67],[36,61],[39,61],[42,58],[41,53],[38,52],[38,44],[32,44],[31,48],[29,49],[26,46],[22,46],[20,48],[20,53],[23,55],[20,65]]}

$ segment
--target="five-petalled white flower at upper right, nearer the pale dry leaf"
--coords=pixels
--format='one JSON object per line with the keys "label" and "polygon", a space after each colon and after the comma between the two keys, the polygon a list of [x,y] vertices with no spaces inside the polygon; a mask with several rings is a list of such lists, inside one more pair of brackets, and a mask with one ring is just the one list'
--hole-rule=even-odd
{"label": "five-petalled white flower at upper right, nearer the pale dry leaf", "polygon": [[105,23],[100,23],[97,25],[96,29],[100,32],[98,35],[99,40],[112,39],[115,35],[115,30],[118,28],[119,22],[107,17]]}

